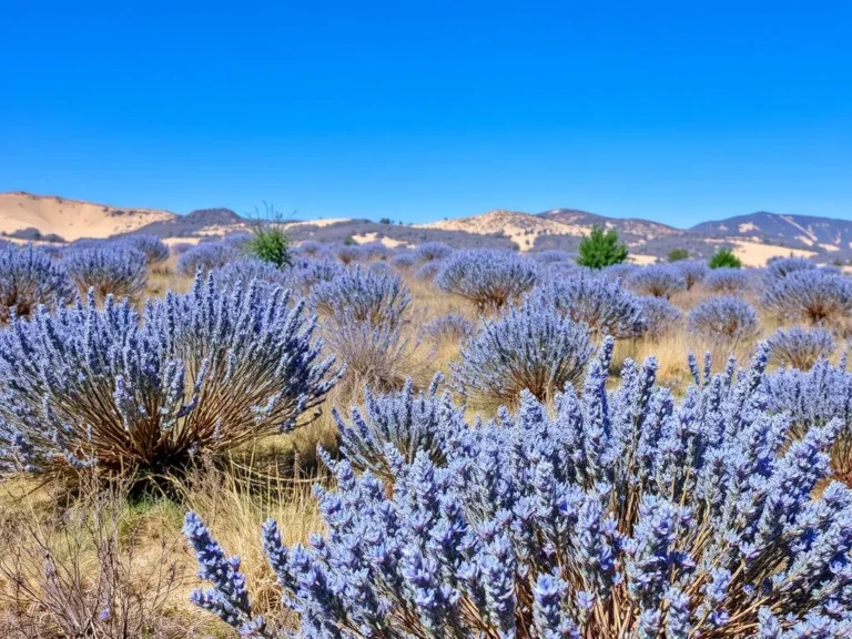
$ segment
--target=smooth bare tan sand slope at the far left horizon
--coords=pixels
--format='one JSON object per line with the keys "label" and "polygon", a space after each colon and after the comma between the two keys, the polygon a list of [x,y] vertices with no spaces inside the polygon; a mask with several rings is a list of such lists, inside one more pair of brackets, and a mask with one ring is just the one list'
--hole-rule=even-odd
{"label": "smooth bare tan sand slope at the far left horizon", "polygon": [[65,240],[109,237],[174,217],[153,209],[119,209],[52,195],[0,193],[0,233],[38,229]]}

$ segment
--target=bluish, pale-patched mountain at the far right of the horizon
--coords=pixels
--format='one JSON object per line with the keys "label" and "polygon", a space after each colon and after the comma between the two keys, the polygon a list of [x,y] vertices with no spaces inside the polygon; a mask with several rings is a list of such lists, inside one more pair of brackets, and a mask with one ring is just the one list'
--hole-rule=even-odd
{"label": "bluish, pale-patched mountain at the far right of the horizon", "polygon": [[743,237],[816,252],[833,253],[852,248],[852,220],[811,215],[782,215],[760,211],[751,215],[703,222],[692,226],[690,232],[706,237]]}

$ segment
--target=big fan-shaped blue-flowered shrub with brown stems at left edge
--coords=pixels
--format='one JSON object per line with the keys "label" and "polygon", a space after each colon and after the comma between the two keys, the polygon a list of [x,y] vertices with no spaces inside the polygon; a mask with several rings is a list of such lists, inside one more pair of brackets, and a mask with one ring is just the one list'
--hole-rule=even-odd
{"label": "big fan-shaped blue-flowered shrub with brown stems at left edge", "polygon": [[90,295],[0,332],[2,473],[168,473],[291,429],[335,378],[287,295],[196,278],[142,317],[111,296],[99,311]]}

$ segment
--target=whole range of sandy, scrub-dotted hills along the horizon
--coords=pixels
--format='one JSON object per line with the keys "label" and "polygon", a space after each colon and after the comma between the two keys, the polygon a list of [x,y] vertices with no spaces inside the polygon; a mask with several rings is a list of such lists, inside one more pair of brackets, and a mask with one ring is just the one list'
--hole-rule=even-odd
{"label": "whole range of sandy, scrub-dotted hills along the horizon", "polygon": [[[616,229],[639,263],[665,260],[672,248],[686,248],[693,258],[710,257],[727,246],[750,266],[761,266],[791,253],[819,262],[852,260],[852,221],[752,213],[704,222],[690,230],[650,220],[606,217],[575,209],[542,213],[495,210],[469,217],[429,224],[394,224],[385,220],[337,217],[288,221],[294,242],[382,242],[387,246],[416,246],[444,242],[455,248],[491,246],[516,251],[556,248],[576,254],[595,225]],[[230,209],[200,209],[175,215],[155,209],[122,209],[57,196],[0,193],[0,235],[18,242],[67,241],[149,233],[169,243],[200,242],[245,233],[251,221]]]}

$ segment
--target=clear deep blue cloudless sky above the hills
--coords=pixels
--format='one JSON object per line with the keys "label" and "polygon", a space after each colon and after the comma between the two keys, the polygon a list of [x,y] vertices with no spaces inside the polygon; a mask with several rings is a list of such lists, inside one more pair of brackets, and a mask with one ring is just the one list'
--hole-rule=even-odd
{"label": "clear deep blue cloudless sky above the hills", "polygon": [[12,0],[2,23],[0,191],[852,217],[849,1]]}

